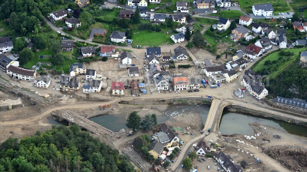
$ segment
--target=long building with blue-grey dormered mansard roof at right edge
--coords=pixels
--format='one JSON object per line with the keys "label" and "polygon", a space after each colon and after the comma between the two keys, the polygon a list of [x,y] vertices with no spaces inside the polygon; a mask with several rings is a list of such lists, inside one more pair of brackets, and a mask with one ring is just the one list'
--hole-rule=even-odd
{"label": "long building with blue-grey dormered mansard roof at right edge", "polygon": [[273,100],[273,107],[277,107],[283,110],[288,110],[291,112],[298,112],[302,114],[307,114],[307,102],[303,99],[297,98],[284,98],[277,96]]}

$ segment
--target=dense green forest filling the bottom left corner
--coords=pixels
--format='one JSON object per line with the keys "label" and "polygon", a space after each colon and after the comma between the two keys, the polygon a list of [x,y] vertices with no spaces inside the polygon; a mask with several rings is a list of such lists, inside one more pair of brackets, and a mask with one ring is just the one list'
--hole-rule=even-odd
{"label": "dense green forest filling the bottom left corner", "polygon": [[133,172],[134,166],[117,149],[100,142],[78,125],[34,136],[9,138],[0,145],[0,172]]}

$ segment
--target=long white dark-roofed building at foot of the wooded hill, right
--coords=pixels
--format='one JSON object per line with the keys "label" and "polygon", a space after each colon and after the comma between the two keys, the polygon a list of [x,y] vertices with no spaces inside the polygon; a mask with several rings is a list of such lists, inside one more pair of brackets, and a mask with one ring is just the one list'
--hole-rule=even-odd
{"label": "long white dark-roofed building at foot of the wooded hill, right", "polygon": [[243,76],[243,84],[246,91],[248,91],[257,100],[263,99],[268,95],[268,91],[262,85],[259,77],[261,76],[255,76],[255,72],[251,69],[245,71],[245,75]]}

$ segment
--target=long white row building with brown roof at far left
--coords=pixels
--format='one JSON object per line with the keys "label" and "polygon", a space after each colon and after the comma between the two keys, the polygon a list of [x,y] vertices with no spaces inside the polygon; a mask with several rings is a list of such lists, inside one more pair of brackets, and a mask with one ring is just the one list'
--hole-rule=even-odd
{"label": "long white row building with brown roof at far left", "polygon": [[16,67],[14,65],[10,65],[6,68],[6,73],[13,78],[18,80],[25,80],[25,81],[34,81],[36,77],[36,71],[30,70],[26,68]]}

